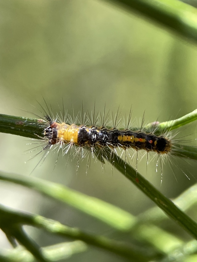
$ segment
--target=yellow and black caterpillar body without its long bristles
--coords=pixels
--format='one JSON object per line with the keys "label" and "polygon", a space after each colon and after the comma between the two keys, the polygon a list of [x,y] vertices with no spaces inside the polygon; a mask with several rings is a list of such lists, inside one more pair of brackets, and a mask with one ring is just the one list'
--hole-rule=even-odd
{"label": "yellow and black caterpillar body without its long bristles", "polygon": [[[49,119],[46,116],[46,119]],[[79,147],[100,149],[133,148],[168,154],[172,148],[171,141],[164,136],[152,133],[133,131],[132,129],[119,130],[105,127],[86,126],[58,123],[50,120],[50,125],[44,130],[44,136],[49,139],[48,146],[55,144],[72,144]]]}

